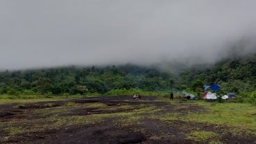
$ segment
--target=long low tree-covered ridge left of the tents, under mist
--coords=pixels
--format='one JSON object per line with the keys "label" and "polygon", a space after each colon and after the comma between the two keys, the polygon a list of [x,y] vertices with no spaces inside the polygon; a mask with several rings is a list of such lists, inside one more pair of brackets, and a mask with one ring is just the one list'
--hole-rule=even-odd
{"label": "long low tree-covered ridge left of the tents, under mist", "polygon": [[75,66],[0,73],[1,93],[86,94],[106,93],[111,89],[163,91],[173,86],[168,73],[141,66]]}

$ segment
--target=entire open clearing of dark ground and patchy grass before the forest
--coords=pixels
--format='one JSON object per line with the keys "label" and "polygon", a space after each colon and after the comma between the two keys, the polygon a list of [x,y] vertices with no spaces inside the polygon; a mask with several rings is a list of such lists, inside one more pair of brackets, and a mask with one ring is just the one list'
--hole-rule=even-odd
{"label": "entire open clearing of dark ground and patchy grass before the forest", "polygon": [[105,96],[0,109],[0,143],[256,143],[247,104]]}

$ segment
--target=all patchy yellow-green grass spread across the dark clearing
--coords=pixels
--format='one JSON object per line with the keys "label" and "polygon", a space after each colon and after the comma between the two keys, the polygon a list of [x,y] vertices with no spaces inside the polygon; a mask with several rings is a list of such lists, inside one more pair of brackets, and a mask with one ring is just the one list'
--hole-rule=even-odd
{"label": "all patchy yellow-green grass spread across the dark clearing", "polygon": [[[168,100],[170,101],[170,100]],[[20,105],[20,106],[19,106]],[[19,108],[25,106],[24,103],[15,105]],[[68,102],[67,105],[61,107],[52,107],[52,103],[46,103],[45,106],[50,109],[33,109],[30,114],[36,116],[33,119],[22,119],[0,123],[0,129],[4,129],[6,135],[29,134],[32,132],[45,132],[47,130],[58,130],[70,126],[79,125],[95,125],[97,123],[111,123],[114,127],[127,128],[134,125],[141,125],[144,118],[157,119],[163,122],[163,125],[171,125],[175,120],[186,123],[197,123],[200,125],[214,125],[214,127],[223,127],[223,131],[232,133],[233,136],[243,136],[243,133],[249,136],[255,135],[256,130],[256,110],[250,104],[239,104],[225,102],[223,104],[213,102],[204,102],[197,100],[191,102],[179,102],[174,100],[170,102],[171,107],[178,111],[166,111],[166,105],[111,105],[107,106],[101,102],[76,104]],[[206,109],[205,112],[189,112],[182,113],[182,109],[189,109],[191,105]],[[79,115],[75,115],[74,111],[79,111]],[[86,114],[86,111],[93,109],[97,112]],[[98,111],[99,110],[99,111]],[[83,111],[84,115],[83,115]],[[163,112],[164,111],[164,112]],[[74,116],[75,115],[75,116]],[[186,125],[187,126],[187,125]],[[191,141],[210,141],[210,143],[221,143],[218,138],[222,134],[214,132],[205,132],[203,127],[180,127],[191,132],[187,135]],[[22,129],[22,130],[19,130]],[[141,129],[136,129],[140,131]],[[218,132],[218,131],[217,131]],[[164,134],[159,133],[155,138],[162,138]],[[214,136],[214,137],[212,137]]]}

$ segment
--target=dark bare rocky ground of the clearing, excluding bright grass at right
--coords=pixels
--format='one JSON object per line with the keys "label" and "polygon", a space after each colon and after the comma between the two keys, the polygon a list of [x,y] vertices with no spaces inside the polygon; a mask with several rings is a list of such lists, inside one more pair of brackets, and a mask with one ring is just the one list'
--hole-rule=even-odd
{"label": "dark bare rocky ground of the clearing, excluding bright grass at right", "polygon": [[[186,120],[162,121],[157,118],[164,114],[177,113],[186,116],[191,112],[207,111],[204,107],[191,105],[189,102],[175,100],[173,103],[175,104],[159,101],[154,96],[145,96],[142,100],[133,100],[130,96],[109,96],[25,105],[0,105],[0,143],[256,143],[254,136],[234,136],[225,126],[192,123]],[[88,104],[92,105],[88,107]],[[102,104],[106,107],[94,107],[93,104]],[[160,110],[148,111],[148,114],[147,111],[136,113],[135,109],[145,107],[157,107]],[[120,122],[125,118],[118,114],[134,111],[136,116],[140,116],[136,123],[117,123],[118,120]],[[86,120],[103,114],[104,117],[95,123],[68,125],[70,122],[65,121],[68,116],[83,116],[82,120]],[[117,115],[108,117],[108,114]],[[55,116],[56,119],[46,123],[51,116]],[[63,124],[58,125],[60,121]],[[193,130],[214,132],[218,134],[218,138],[193,141],[187,138]]]}

